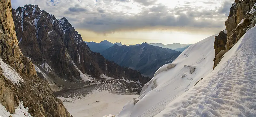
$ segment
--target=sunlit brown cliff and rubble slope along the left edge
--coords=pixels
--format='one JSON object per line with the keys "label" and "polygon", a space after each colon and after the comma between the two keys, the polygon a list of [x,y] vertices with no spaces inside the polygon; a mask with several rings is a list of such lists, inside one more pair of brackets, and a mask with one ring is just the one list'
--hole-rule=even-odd
{"label": "sunlit brown cliff and rubble slope along the left edge", "polygon": [[34,117],[70,117],[48,83],[37,76],[32,61],[21,53],[10,0],[0,0],[0,12],[0,106],[10,114],[23,104]]}

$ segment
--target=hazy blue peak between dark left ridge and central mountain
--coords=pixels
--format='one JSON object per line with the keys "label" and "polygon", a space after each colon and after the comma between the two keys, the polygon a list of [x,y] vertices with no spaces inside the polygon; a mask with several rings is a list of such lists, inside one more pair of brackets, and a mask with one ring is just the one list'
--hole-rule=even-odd
{"label": "hazy blue peak between dark left ridge and central mountain", "polygon": [[96,43],[96,42],[85,42],[88,47],[91,49],[91,51],[93,52],[103,52],[104,50],[112,47],[113,45],[119,45],[119,46],[122,46],[122,43],[115,43],[115,44],[112,44],[111,42],[107,41],[107,40],[104,40],[104,41],[101,41],[100,43]]}

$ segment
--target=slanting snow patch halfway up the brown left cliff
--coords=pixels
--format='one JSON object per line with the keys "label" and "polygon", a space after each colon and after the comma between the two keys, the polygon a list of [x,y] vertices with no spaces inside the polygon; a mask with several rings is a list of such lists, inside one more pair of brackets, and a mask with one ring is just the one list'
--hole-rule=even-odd
{"label": "slanting snow patch halfway up the brown left cliff", "polygon": [[4,76],[9,79],[13,84],[20,86],[20,82],[23,83],[23,79],[20,74],[16,72],[10,65],[6,64],[2,58],[0,58],[0,66],[2,68]]}

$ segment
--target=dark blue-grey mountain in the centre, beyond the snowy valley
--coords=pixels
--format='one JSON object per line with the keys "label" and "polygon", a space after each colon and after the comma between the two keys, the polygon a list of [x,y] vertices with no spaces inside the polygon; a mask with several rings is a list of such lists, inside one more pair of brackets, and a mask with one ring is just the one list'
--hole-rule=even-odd
{"label": "dark blue-grey mountain in the centre, beyond the snowy valley", "polygon": [[162,65],[174,61],[181,52],[142,43],[139,46],[114,45],[102,52],[102,55],[118,65],[140,71],[153,77],[153,73]]}

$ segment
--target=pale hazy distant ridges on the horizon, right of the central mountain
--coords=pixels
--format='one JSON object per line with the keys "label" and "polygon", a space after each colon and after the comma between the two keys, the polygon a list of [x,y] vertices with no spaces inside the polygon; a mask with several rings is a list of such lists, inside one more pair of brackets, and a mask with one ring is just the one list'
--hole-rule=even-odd
{"label": "pale hazy distant ridges on the horizon, right of the central mountain", "polygon": [[150,45],[155,45],[155,46],[158,46],[158,47],[169,48],[169,49],[172,49],[172,50],[183,52],[184,50],[186,50],[192,44],[173,43],[173,44],[164,45],[162,43],[151,43]]}

